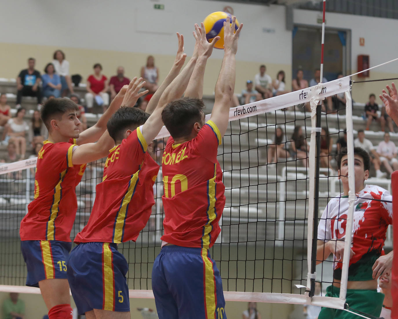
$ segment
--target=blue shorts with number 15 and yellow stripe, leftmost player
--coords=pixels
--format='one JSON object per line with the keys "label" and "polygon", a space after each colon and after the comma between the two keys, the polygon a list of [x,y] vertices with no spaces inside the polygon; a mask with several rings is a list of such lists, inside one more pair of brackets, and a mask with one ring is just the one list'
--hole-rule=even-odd
{"label": "blue shorts with number 15 and yellow stripe, leftmost player", "polygon": [[58,240],[23,240],[21,251],[27,266],[26,286],[39,287],[44,279],[66,279],[66,261],[72,243]]}

